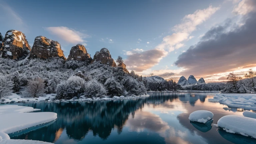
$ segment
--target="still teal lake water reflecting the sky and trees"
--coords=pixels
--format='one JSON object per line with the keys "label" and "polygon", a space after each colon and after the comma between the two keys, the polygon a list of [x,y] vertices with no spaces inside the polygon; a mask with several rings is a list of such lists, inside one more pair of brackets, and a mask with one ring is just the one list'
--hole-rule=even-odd
{"label": "still teal lake water reflecting the sky and trees", "polygon": [[208,102],[213,94],[149,94],[146,98],[129,100],[19,104],[41,109],[41,112],[55,112],[58,119],[47,127],[17,133],[18,136],[11,139],[55,144],[256,143],[253,138],[189,121],[189,114],[196,110],[211,111],[214,124],[225,115],[242,115],[243,109]]}

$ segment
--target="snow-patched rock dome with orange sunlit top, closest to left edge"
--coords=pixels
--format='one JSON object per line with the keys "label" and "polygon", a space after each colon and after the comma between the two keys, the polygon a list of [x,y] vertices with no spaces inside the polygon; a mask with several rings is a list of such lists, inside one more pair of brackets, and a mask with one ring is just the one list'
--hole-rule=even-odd
{"label": "snow-patched rock dome with orange sunlit top, closest to left edge", "polygon": [[1,57],[18,60],[24,59],[29,55],[30,50],[30,45],[22,32],[17,30],[6,32],[1,48]]}

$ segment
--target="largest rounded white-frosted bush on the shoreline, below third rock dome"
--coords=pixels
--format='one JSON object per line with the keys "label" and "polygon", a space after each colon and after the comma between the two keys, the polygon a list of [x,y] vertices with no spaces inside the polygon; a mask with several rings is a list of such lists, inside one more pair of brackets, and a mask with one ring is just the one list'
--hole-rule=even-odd
{"label": "largest rounded white-frosted bush on the shoreline, below third rock dome", "polygon": [[57,99],[71,99],[84,92],[85,81],[78,76],[71,76],[67,81],[61,82],[56,88]]}

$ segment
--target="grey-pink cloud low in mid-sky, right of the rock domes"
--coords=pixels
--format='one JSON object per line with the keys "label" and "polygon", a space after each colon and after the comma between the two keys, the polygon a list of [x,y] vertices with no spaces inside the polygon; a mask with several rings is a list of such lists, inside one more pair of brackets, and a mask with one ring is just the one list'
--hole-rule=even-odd
{"label": "grey-pink cloud low in mid-sky, right of the rock domes", "polygon": [[[129,52],[127,54],[127,52]],[[163,50],[152,49],[143,52],[131,53],[127,51],[127,59],[124,61],[128,70],[135,70],[141,72],[149,69],[160,62],[160,60],[166,56],[166,52]]]}

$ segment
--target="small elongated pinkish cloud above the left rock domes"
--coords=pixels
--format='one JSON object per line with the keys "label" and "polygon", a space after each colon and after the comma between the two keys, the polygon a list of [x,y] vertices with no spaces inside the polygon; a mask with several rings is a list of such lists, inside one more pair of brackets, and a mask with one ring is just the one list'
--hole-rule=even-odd
{"label": "small elongated pinkish cloud above the left rock domes", "polygon": [[67,41],[69,43],[77,44],[83,43],[85,40],[83,38],[89,38],[90,36],[79,31],[75,31],[68,27],[46,27],[45,30],[49,31],[51,34],[59,37],[60,39]]}

